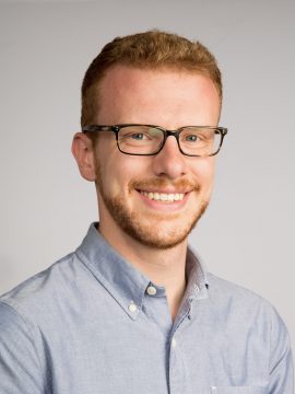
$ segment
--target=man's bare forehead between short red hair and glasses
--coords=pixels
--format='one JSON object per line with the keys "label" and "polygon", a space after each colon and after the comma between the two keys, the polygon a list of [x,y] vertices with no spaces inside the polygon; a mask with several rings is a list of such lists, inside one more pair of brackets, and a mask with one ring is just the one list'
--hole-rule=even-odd
{"label": "man's bare forehead between short red hair and glasses", "polygon": [[220,97],[211,79],[194,71],[115,66],[99,84],[98,106],[101,123],[160,124],[163,117],[163,124],[180,114],[186,121],[204,112],[219,117]]}

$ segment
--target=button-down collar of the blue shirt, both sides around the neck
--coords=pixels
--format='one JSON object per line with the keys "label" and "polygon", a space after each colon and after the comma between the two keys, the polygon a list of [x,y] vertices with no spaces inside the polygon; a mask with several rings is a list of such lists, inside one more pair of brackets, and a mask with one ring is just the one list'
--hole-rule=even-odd
{"label": "button-down collar of the blue shirt, both sides around the neck", "polygon": [[[151,280],[122,258],[97,231],[97,223],[92,223],[82,244],[75,251],[95,278],[115,298],[128,315],[135,320],[142,309],[146,288],[156,287]],[[206,297],[206,276],[197,255],[188,248],[187,290],[185,300],[199,300]]]}

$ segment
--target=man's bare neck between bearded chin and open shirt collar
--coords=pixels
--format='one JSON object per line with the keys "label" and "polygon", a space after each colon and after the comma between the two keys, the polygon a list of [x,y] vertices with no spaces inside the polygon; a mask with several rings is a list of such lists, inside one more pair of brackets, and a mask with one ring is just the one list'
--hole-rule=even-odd
{"label": "man's bare neck between bearded chin and open shirt collar", "polygon": [[109,228],[101,222],[99,232],[110,246],[134,268],[150,278],[153,283],[165,287],[169,311],[174,320],[186,290],[187,239],[176,246],[160,250],[143,245],[122,232],[117,225]]}

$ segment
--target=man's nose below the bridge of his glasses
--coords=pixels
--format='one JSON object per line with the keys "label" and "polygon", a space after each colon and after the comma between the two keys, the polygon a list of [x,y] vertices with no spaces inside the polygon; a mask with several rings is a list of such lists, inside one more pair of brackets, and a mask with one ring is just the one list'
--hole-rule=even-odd
{"label": "man's nose below the bridge of his glasses", "polygon": [[187,173],[186,157],[180,152],[174,136],[167,137],[163,149],[153,158],[153,170],[157,176],[166,175],[170,179]]}

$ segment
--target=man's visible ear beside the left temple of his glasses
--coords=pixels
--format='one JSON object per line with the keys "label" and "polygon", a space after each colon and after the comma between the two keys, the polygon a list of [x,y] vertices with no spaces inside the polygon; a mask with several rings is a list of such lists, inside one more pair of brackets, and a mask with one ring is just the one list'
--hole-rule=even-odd
{"label": "man's visible ear beside the left temple of his glasses", "polygon": [[72,153],[78,163],[80,174],[86,181],[96,179],[96,160],[92,141],[83,132],[76,132],[73,137]]}

